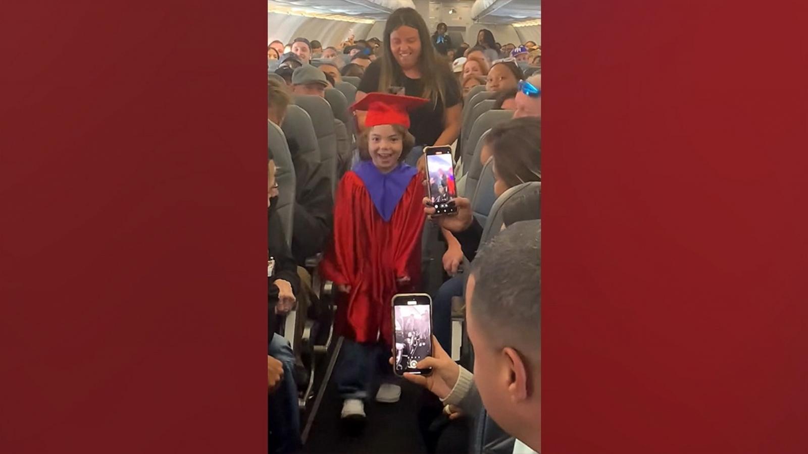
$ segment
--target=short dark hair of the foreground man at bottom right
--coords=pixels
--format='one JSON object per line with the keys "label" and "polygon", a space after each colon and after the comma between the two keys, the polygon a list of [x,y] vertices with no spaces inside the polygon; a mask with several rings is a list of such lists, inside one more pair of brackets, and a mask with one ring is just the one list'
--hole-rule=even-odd
{"label": "short dark hair of the foreground man at bottom right", "polygon": [[[516,222],[481,248],[472,263],[469,305],[495,344],[523,354],[541,345],[541,221]],[[524,351],[523,351],[524,349]]]}

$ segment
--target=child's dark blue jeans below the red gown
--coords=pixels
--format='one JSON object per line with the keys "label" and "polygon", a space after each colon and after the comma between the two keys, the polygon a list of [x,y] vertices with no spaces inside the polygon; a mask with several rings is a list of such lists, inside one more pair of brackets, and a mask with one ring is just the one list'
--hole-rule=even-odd
{"label": "child's dark blue jeans below the red gown", "polygon": [[390,348],[383,343],[358,343],[343,339],[334,373],[337,392],[343,399],[367,399],[377,379],[393,381]]}

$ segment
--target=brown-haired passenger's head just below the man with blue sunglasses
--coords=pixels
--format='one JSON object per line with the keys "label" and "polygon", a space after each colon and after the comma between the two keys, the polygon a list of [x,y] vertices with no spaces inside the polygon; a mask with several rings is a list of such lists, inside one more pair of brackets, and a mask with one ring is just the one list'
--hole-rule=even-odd
{"label": "brown-haired passenger's head just below the man with blue sunglasses", "polygon": [[482,142],[480,161],[494,157],[494,194],[530,181],[541,181],[541,119],[507,120],[491,128]]}

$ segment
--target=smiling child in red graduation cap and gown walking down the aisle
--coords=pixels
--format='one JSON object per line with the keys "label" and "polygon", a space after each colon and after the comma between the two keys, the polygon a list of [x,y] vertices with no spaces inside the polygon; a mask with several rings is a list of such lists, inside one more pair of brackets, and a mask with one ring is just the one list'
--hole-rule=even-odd
{"label": "smiling child in red graduation cap and gown walking down the aisle", "polygon": [[[418,284],[423,174],[402,161],[414,142],[407,110],[426,102],[371,93],[351,106],[368,111],[367,128],[359,140],[360,162],[339,183],[334,238],[322,261],[322,275],[339,289],[335,331],[345,340],[335,381],[343,418],[364,419],[364,399],[377,372],[393,376],[387,362],[390,301]],[[395,402],[400,396],[401,388],[388,382],[376,398]]]}

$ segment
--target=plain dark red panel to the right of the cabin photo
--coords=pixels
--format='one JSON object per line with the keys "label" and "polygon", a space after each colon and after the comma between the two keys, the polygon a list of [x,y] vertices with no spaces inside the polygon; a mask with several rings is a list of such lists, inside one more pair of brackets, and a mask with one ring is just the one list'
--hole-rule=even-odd
{"label": "plain dark red panel to the right of the cabin photo", "polygon": [[542,452],[808,452],[808,5],[542,8]]}

